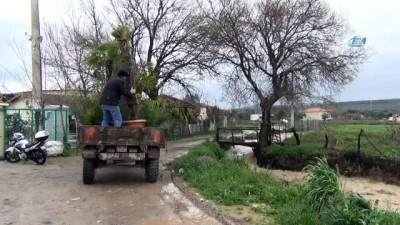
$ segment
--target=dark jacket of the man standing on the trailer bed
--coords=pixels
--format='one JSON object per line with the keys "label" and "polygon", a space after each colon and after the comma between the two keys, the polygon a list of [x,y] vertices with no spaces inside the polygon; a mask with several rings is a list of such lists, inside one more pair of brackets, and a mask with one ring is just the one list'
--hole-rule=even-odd
{"label": "dark jacket of the man standing on the trailer bed", "polygon": [[127,87],[125,81],[118,76],[112,76],[104,87],[100,104],[117,106],[121,95],[126,96],[129,100],[133,99],[133,95],[129,91],[129,87]]}

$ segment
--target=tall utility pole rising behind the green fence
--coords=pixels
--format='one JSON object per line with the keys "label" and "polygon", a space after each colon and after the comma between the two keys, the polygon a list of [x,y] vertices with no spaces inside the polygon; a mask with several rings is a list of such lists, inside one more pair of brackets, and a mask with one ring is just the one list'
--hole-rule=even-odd
{"label": "tall utility pole rising behind the green fence", "polygon": [[31,29],[32,29],[32,105],[43,108],[42,99],[42,59],[40,51],[39,0],[31,0]]}

